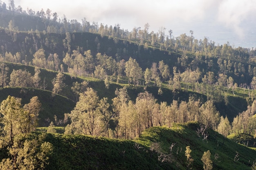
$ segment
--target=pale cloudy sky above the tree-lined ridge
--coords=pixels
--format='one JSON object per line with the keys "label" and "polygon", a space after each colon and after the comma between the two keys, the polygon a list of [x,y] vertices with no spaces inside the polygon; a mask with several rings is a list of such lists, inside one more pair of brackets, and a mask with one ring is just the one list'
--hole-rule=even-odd
{"label": "pale cloudy sky above the tree-lined ridge", "polygon": [[[2,0],[9,6],[8,0]],[[14,0],[23,10],[50,9],[59,17],[108,26],[120,24],[132,31],[149,23],[149,31],[171,29],[173,36],[182,33],[200,40],[204,37],[234,47],[256,47],[256,0]]]}

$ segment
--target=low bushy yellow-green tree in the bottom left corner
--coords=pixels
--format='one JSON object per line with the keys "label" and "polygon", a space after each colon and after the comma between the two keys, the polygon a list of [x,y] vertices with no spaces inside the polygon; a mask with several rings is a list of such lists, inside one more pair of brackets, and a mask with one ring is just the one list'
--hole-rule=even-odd
{"label": "low bushy yellow-green tree in the bottom left corner", "polygon": [[49,163],[53,145],[45,142],[45,133],[40,135],[22,134],[7,148],[10,155],[0,162],[1,170],[44,170]]}

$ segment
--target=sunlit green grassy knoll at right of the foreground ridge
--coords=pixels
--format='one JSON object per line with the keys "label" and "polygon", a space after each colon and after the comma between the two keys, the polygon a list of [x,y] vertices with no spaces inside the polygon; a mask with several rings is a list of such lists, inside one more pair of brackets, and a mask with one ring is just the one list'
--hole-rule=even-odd
{"label": "sunlit green grassy knoll at right of the foreground ridge", "polygon": [[[223,137],[213,130],[207,130],[209,136],[207,140],[198,137],[198,124],[176,124],[171,129],[164,127],[153,127],[143,132],[141,139],[142,144],[150,146],[158,143],[162,152],[173,155],[173,169],[186,169],[186,146],[190,146],[191,156],[194,159],[192,169],[203,169],[200,160],[203,153],[207,150],[211,152],[211,160],[213,161],[213,169],[223,170],[249,170],[256,158],[255,150],[237,144],[236,142]],[[170,152],[171,144],[175,143],[172,152]],[[182,148],[182,150],[181,150]],[[234,161],[234,157],[238,152],[238,161]],[[218,159],[215,155],[218,154]],[[177,165],[179,165],[177,167]]]}

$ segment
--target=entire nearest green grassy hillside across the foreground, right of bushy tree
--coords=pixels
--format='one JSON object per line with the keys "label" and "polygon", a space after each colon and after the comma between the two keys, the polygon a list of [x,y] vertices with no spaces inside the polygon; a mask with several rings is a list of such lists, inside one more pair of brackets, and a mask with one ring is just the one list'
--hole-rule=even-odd
{"label": "entire nearest green grassy hillside across the foreground, right of bushy tree", "polygon": [[[186,146],[194,159],[192,169],[203,170],[201,161],[210,150],[213,170],[250,170],[256,151],[237,144],[213,130],[208,138],[198,137],[197,123],[153,127],[135,140],[107,139],[83,135],[47,134],[54,145],[47,169],[186,170]],[[175,144],[170,151],[170,146]],[[235,159],[236,154],[238,157]]]}

